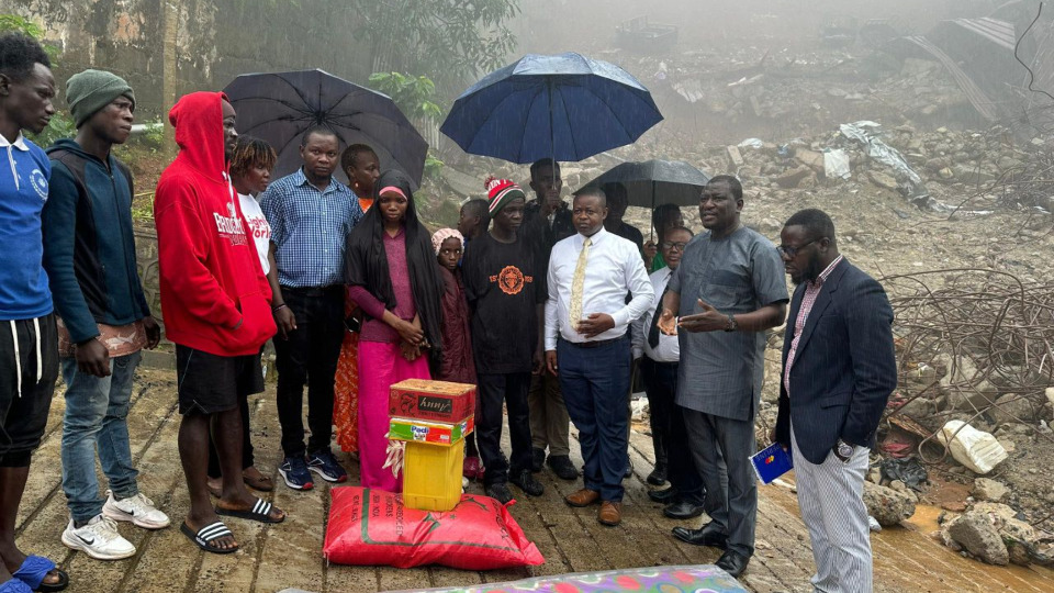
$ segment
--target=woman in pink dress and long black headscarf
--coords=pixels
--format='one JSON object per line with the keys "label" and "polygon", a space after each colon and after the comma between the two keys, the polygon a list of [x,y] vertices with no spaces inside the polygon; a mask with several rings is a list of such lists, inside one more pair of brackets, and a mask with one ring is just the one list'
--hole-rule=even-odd
{"label": "woman in pink dress and long black headscarf", "polygon": [[402,490],[384,469],[393,383],[430,379],[442,360],[442,278],[428,231],[417,220],[410,179],[390,170],[373,184],[373,206],[348,236],[347,282],[362,309],[359,339],[361,484]]}

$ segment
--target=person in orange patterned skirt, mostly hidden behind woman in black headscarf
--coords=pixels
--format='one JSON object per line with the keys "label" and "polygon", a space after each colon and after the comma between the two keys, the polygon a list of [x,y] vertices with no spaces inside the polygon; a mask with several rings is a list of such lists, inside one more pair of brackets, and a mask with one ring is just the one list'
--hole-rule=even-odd
{"label": "person in orange patterned skirt, mostly hidden behind woman in black headscarf", "polygon": [[[373,205],[373,183],[380,177],[380,164],[373,148],[352,144],[340,155],[340,168],[348,176],[348,186],[359,199],[362,212]],[[358,320],[361,312],[349,296],[344,307],[347,320]],[[340,358],[333,389],[333,425],[337,446],[345,452],[359,450],[359,329],[355,323],[345,328]]]}

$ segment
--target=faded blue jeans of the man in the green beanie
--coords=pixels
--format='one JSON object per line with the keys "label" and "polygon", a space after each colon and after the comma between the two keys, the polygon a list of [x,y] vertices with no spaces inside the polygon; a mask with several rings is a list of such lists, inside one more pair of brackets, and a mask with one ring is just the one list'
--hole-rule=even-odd
{"label": "faded blue jeans of the man in the green beanie", "polygon": [[110,490],[117,499],[135,496],[138,471],[128,444],[128,402],[139,353],[110,359],[110,377],[93,377],[63,358],[66,417],[63,421],[63,491],[78,525],[102,512],[96,478],[96,447]]}

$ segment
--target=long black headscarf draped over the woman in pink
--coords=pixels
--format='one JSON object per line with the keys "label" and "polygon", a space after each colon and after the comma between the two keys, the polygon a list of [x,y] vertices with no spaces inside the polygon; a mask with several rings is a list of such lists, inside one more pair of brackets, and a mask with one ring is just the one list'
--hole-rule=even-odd
{"label": "long black headscarf draped over the woman in pink", "polygon": [[442,357],[440,299],[444,281],[436,266],[436,255],[428,230],[417,220],[417,208],[414,205],[410,179],[402,171],[395,169],[385,171],[373,183],[373,206],[348,235],[345,281],[348,286],[365,288],[377,300],[384,303],[386,309],[395,307],[395,292],[392,289],[392,278],[388,269],[388,254],[384,251],[384,221],[380,208],[380,192],[388,187],[399,188],[406,195],[406,216],[403,219],[403,227],[406,233],[410,286],[425,338],[430,345],[429,365],[438,369]]}

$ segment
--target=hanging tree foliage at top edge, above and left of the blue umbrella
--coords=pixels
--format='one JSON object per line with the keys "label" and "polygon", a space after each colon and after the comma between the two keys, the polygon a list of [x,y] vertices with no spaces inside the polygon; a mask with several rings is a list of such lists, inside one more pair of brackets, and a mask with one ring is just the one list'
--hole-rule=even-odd
{"label": "hanging tree foliage at top edge, above and left of the blue umbrella", "polygon": [[504,66],[516,47],[506,22],[518,0],[371,0],[356,2],[356,31],[373,47],[374,66],[429,72],[442,94]]}

